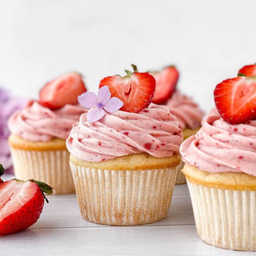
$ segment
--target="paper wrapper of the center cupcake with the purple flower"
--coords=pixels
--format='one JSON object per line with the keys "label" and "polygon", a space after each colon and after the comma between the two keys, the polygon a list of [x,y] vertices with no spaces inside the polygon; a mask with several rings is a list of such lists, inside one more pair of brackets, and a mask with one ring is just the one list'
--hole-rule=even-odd
{"label": "paper wrapper of the center cupcake with the purple flower", "polygon": [[130,226],[162,220],[170,207],[178,166],[155,170],[101,170],[70,162],[82,217]]}

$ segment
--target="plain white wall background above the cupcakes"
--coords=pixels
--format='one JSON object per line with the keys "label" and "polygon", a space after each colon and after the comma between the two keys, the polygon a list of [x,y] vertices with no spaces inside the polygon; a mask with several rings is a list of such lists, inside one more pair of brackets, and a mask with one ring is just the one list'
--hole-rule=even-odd
{"label": "plain white wall background above the cupcakes", "polygon": [[175,64],[205,110],[213,89],[256,62],[256,0],[1,0],[0,83],[37,98],[70,70],[90,90],[108,75]]}

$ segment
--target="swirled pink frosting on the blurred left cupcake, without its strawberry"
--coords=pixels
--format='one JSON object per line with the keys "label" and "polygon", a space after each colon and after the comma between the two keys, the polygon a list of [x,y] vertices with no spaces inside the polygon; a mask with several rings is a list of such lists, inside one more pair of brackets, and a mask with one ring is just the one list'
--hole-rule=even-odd
{"label": "swirled pink frosting on the blurred left cupcake, without its strawberry", "polygon": [[85,112],[80,105],[67,104],[51,110],[35,101],[10,117],[9,128],[12,134],[28,141],[50,141],[54,137],[66,140],[73,124]]}

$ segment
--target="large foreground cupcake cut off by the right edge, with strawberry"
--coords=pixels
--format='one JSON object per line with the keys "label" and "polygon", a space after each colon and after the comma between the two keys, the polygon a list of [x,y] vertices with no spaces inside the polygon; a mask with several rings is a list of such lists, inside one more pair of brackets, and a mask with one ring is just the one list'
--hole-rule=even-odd
{"label": "large foreground cupcake cut off by the right edge, with strawberry", "polygon": [[181,154],[198,235],[206,243],[256,250],[256,77],[218,84],[216,108]]}

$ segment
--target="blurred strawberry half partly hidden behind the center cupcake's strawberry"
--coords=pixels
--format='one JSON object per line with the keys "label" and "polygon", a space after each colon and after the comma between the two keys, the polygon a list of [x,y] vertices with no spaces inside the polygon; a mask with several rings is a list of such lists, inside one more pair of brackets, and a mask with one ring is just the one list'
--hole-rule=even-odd
{"label": "blurred strawberry half partly hidden behind the center cupcake's strawberry", "polygon": [[162,104],[175,92],[179,72],[174,66],[165,67],[159,72],[149,72],[155,78],[153,103]]}

